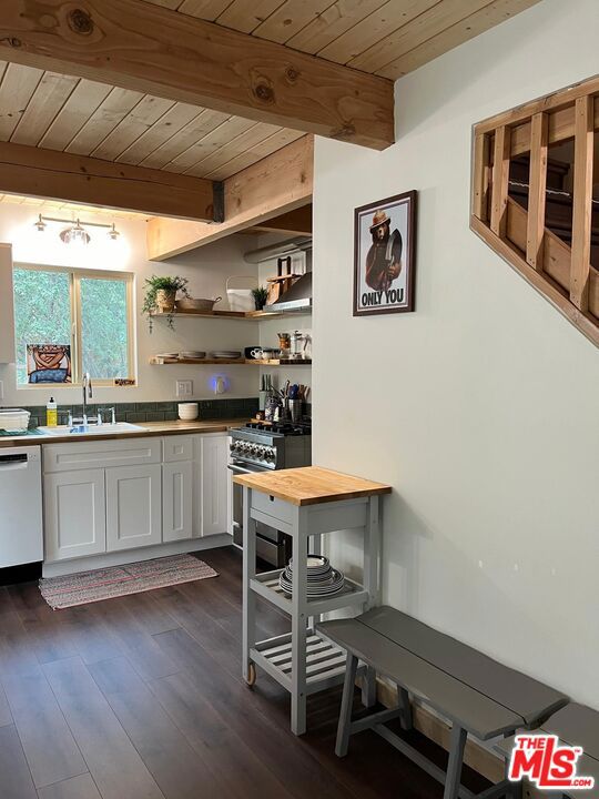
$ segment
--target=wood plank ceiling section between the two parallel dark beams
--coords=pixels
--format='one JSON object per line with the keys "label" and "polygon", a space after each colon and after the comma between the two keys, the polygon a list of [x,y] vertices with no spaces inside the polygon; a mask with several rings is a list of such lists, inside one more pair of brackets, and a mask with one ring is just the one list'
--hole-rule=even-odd
{"label": "wood plank ceiling section between the two parallel dark beams", "polygon": [[0,61],[0,141],[220,181],[302,135]]}

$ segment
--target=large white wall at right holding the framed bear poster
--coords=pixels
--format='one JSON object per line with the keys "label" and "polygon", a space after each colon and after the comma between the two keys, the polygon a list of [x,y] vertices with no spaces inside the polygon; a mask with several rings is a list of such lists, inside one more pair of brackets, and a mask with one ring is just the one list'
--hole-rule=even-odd
{"label": "large white wall at right holding the framed bear poster", "polygon": [[[598,30],[544,0],[399,80],[385,152],[317,140],[313,368],[315,463],[395,489],[385,601],[597,708],[598,352],[468,211],[473,123],[593,75]],[[353,210],[410,189],[416,313],[353,318]]]}

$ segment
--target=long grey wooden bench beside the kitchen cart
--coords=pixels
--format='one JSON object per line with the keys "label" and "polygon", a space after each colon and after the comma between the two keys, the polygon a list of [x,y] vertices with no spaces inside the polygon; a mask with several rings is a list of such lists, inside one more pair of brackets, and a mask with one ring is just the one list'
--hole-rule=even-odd
{"label": "long grey wooden bench beside the kitchen cart", "polygon": [[[483,741],[508,737],[521,727],[537,726],[568,701],[564,694],[395,608],[379,607],[353,619],[323,621],[317,627],[347,650],[336,754],[347,754],[351,735],[373,729],[445,783],[444,799],[474,797],[460,783],[468,734]],[[352,722],[358,660],[397,685],[398,701],[395,708]],[[403,729],[412,727],[409,695],[451,721],[447,771],[385,726],[398,718]],[[518,796],[518,786],[504,780],[478,798],[499,796]]]}

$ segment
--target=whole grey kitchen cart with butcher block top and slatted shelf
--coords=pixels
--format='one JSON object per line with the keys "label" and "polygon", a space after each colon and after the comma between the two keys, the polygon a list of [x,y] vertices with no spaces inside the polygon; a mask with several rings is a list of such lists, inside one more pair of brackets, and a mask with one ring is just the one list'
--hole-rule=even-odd
{"label": "whole grey kitchen cart with butcher block top and slatted shelf", "polygon": [[[323,614],[342,608],[364,613],[379,599],[379,497],[392,487],[319,466],[235,475],[243,486],[243,675],[256,679],[256,665],[286,688],[292,698],[291,727],[306,730],[308,695],[343,682],[346,653],[315,630]],[[278,585],[280,569],[256,574],[256,527],[274,527],[293,540],[293,593]],[[307,596],[307,554],[321,553],[326,533],[362,528],[362,583],[345,578],[339,593]],[[256,595],[288,614],[291,634],[256,641]],[[375,700],[374,672],[362,669],[363,700]]]}

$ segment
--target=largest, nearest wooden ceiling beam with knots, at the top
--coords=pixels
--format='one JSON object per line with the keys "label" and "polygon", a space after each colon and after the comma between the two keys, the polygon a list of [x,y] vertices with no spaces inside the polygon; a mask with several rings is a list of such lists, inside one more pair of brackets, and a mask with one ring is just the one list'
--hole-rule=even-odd
{"label": "largest, nearest wooden ceiling beam with knots, at the top", "polygon": [[142,0],[0,3],[0,58],[383,150],[393,82]]}

